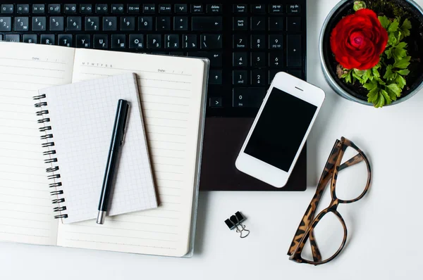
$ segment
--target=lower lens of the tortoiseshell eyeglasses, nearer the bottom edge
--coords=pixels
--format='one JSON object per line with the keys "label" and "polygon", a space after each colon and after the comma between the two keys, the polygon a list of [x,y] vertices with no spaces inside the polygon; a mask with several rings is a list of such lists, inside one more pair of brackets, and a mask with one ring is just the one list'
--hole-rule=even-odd
{"label": "lower lens of the tortoiseshell eyeglasses, nearer the bottom edge", "polygon": [[[314,227],[314,240],[321,254],[321,260],[319,261],[327,260],[335,255],[342,245],[343,237],[344,229],[341,221],[333,212],[326,213]],[[301,257],[304,260],[316,261],[313,259],[310,238],[308,238],[302,250]]]}

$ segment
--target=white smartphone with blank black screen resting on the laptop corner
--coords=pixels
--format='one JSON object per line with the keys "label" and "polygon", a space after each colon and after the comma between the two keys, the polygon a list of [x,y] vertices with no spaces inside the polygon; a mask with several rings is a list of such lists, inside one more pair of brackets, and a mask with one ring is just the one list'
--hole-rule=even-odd
{"label": "white smartphone with blank black screen resting on the laptop corner", "polygon": [[318,87],[278,72],[235,161],[237,169],[285,186],[324,98]]}

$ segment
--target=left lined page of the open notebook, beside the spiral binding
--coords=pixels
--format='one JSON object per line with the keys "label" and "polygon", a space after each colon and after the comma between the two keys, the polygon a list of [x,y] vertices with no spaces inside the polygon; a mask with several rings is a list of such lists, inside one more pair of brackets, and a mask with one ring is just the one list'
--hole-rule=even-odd
{"label": "left lined page of the open notebook, beside the spiral binding", "polygon": [[71,82],[73,49],[0,42],[0,240],[56,245],[32,96]]}

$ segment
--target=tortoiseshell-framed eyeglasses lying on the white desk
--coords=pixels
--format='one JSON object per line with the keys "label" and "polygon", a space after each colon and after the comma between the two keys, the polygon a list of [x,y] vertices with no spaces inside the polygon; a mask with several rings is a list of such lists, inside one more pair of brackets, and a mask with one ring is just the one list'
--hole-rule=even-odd
{"label": "tortoiseshell-framed eyeglasses lying on the white desk", "polygon": [[[353,151],[356,153],[353,158],[350,158],[349,160],[346,160],[343,163],[343,156],[345,155],[346,150]],[[353,149],[353,150],[351,150]],[[364,191],[357,196],[355,199],[345,200],[340,199],[336,196],[336,182],[339,179],[338,173],[342,170],[347,169],[348,167],[352,167],[353,165],[357,165],[358,163],[362,163],[364,161],[366,167],[367,167],[367,180],[363,180]],[[342,163],[342,164],[341,164]],[[353,168],[349,168],[349,170],[353,170]],[[365,172],[362,174],[361,177],[365,177]],[[370,164],[369,160],[367,159],[366,155],[353,144],[348,139],[345,139],[344,137],[340,140],[336,140],[335,145],[332,148],[331,154],[329,155],[329,158],[326,162],[326,165],[324,167],[324,171],[321,174],[319,184],[317,185],[316,193],[314,194],[314,197],[312,198],[311,203],[309,204],[309,207],[307,208],[304,217],[302,217],[302,220],[300,222],[300,226],[297,229],[297,232],[295,233],[295,236],[293,238],[293,241],[290,245],[290,248],[288,250],[288,255],[290,255],[289,259],[293,260],[295,262],[302,262],[302,263],[308,263],[310,265],[323,265],[327,262],[330,262],[335,257],[341,253],[345,246],[345,242],[347,241],[347,227],[345,225],[345,221],[341,214],[338,212],[337,208],[340,203],[353,203],[355,201],[359,201],[363,196],[367,193],[369,190],[370,182],[371,182],[372,172],[370,170]],[[357,178],[357,177],[353,177]],[[357,178],[358,179],[358,178]],[[354,180],[351,180],[354,181]],[[320,199],[322,194],[324,193],[324,190],[326,189],[326,186],[331,183],[331,203],[329,204],[329,207],[319,212],[317,216],[314,217],[317,206],[319,205]],[[361,190],[361,189],[360,189]],[[319,246],[317,246],[317,238],[314,234],[314,231],[316,227],[318,226],[319,222],[321,222],[321,219],[323,219],[326,215],[329,213],[332,213],[338,218],[338,221],[341,222],[343,227],[343,238],[341,241],[341,246],[338,248],[338,250],[335,251],[335,253],[330,253],[330,257],[326,257],[323,260],[321,252],[323,250],[319,249]],[[330,234],[330,232],[327,232],[327,229],[324,229],[325,234]],[[305,244],[309,241],[309,245],[311,246],[311,252],[312,252],[312,258],[313,260],[307,260],[307,257],[302,256],[303,249],[305,247]],[[332,242],[333,243],[333,242]],[[310,257],[311,258],[311,257]]]}

